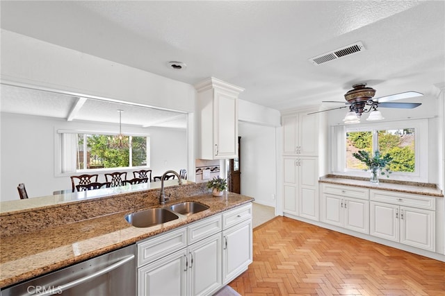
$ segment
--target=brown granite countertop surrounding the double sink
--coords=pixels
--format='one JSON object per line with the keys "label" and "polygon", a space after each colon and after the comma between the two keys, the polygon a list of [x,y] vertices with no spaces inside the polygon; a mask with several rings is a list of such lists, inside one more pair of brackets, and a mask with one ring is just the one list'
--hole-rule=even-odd
{"label": "brown granite countertop surrounding the double sink", "polygon": [[[136,211],[132,209],[38,231],[2,236],[0,288],[117,250],[253,200],[236,193],[225,193],[218,198],[211,194],[195,195],[168,204],[196,201],[207,204],[209,209],[191,216],[178,215],[179,219],[154,227],[137,228],[129,225],[124,216]],[[143,209],[137,209],[140,210]]]}

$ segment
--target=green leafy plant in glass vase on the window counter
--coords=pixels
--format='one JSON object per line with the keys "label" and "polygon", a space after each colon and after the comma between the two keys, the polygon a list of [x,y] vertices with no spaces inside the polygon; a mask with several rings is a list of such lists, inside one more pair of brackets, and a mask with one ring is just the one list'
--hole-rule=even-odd
{"label": "green leafy plant in glass vase on the window counter", "polygon": [[374,155],[371,156],[365,150],[359,150],[357,153],[353,153],[353,157],[359,159],[360,162],[363,162],[368,166],[368,170],[371,172],[371,183],[378,184],[378,173],[385,175],[385,172],[382,170],[387,172],[387,177],[392,173],[389,171],[389,168],[387,168],[393,160],[389,153],[381,155],[379,150],[375,150]]}

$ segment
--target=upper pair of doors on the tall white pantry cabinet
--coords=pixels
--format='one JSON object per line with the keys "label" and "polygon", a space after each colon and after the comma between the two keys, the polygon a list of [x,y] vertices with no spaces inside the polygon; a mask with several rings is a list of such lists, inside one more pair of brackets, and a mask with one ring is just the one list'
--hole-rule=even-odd
{"label": "upper pair of doors on the tall white pantry cabinet", "polygon": [[282,116],[283,155],[318,155],[318,114]]}

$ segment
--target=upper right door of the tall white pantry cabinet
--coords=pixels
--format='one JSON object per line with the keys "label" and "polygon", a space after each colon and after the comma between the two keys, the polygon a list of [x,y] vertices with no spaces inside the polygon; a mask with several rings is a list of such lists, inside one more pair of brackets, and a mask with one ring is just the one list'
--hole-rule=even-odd
{"label": "upper right door of the tall white pantry cabinet", "polygon": [[318,115],[300,113],[298,117],[299,155],[318,155]]}

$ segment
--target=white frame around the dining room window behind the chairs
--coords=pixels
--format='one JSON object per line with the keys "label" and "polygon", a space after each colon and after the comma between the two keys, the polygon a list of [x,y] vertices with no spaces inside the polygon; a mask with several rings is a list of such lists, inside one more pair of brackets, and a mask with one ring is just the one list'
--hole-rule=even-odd
{"label": "white frame around the dining room window behind the chairs", "polygon": [[[103,130],[62,130],[62,129],[55,129],[55,139],[54,139],[54,156],[55,156],[55,176],[56,177],[63,177],[63,176],[69,176],[73,173],[111,173],[114,171],[134,171],[135,169],[149,169],[151,164],[150,154],[151,154],[151,143],[150,143],[150,134],[141,134],[141,133],[126,133],[126,136],[131,137],[146,137],[147,138],[147,166],[121,166],[121,167],[115,167],[115,168],[90,168],[90,169],[80,169],[77,170],[76,166],[74,165],[74,170],[65,171],[63,169],[63,166],[70,162],[70,159],[66,157],[65,155],[72,155],[72,152],[76,150],[76,147],[70,147],[67,148],[64,146],[63,141],[63,134],[102,134],[102,135],[108,135],[108,136],[114,136],[115,132],[108,132]],[[72,143],[72,145],[76,145],[76,142]]]}

